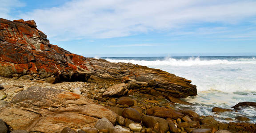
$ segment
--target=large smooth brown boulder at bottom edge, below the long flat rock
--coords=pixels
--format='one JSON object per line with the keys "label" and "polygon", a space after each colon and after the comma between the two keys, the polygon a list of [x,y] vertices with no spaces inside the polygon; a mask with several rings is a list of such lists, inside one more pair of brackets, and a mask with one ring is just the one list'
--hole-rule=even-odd
{"label": "large smooth brown boulder at bottom edge, below the long flat rock", "polygon": [[164,132],[167,132],[169,129],[168,122],[165,119],[160,118],[160,117],[153,117],[153,116],[145,115],[142,117],[142,123],[146,127],[150,127],[152,129],[154,128],[156,123],[159,123],[160,129],[162,129]]}

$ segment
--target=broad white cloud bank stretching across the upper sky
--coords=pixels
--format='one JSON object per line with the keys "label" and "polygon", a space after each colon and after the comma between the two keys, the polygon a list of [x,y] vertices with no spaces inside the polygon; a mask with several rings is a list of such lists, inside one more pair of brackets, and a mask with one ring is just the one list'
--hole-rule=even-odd
{"label": "broad white cloud bank stretching across the upper sky", "polygon": [[[8,0],[6,0],[8,1]],[[256,16],[255,0],[72,0],[20,14],[55,40],[113,38],[193,23],[239,23]]]}

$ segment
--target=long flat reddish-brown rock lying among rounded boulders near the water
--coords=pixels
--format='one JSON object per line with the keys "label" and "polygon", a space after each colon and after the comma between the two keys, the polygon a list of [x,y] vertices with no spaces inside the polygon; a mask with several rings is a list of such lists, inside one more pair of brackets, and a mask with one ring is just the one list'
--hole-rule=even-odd
{"label": "long flat reddish-brown rock lying among rounded boulders near the water", "polygon": [[153,115],[156,117],[163,117],[163,118],[182,118],[184,114],[180,113],[177,110],[166,109],[164,107],[153,107],[147,110],[147,115]]}

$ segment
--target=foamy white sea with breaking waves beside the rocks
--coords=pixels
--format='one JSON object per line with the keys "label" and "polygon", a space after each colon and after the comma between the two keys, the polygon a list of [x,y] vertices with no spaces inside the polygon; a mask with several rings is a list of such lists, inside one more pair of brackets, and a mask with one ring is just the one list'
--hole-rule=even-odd
{"label": "foamy white sea with breaking waves beside the rocks", "polygon": [[159,68],[176,76],[192,80],[197,86],[197,96],[184,100],[200,115],[224,118],[244,116],[256,123],[256,109],[245,107],[238,112],[212,113],[213,107],[232,109],[238,102],[256,102],[256,56],[207,57],[108,57],[109,62],[133,63]]}

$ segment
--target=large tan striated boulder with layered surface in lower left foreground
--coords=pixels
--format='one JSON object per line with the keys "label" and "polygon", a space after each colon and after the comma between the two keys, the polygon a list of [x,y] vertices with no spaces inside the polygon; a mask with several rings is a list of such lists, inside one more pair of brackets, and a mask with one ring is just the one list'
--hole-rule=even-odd
{"label": "large tan striated boulder with layered surface in lower left foreground", "polygon": [[81,95],[40,87],[20,92],[0,109],[0,119],[12,129],[40,133],[92,126],[103,117],[114,124],[117,114]]}

